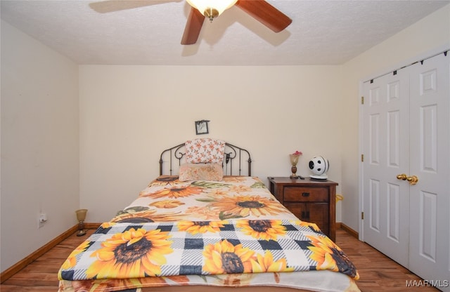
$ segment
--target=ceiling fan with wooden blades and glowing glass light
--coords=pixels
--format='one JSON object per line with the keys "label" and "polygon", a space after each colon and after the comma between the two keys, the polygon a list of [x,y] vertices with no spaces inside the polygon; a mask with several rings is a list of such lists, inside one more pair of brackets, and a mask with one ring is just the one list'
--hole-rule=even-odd
{"label": "ceiling fan with wooden blades and glowing glass light", "polygon": [[[176,1],[176,0],[172,0]],[[198,36],[203,26],[205,18],[212,21],[223,11],[232,6],[237,6],[250,16],[269,27],[274,32],[281,32],[293,21],[287,15],[279,11],[265,0],[186,0],[191,5],[186,27],[181,38],[182,45],[191,45],[197,42]],[[93,2],[89,6],[99,13],[108,13],[123,9],[136,8],[160,4],[166,1],[140,0],[140,1],[119,1],[109,0]]]}

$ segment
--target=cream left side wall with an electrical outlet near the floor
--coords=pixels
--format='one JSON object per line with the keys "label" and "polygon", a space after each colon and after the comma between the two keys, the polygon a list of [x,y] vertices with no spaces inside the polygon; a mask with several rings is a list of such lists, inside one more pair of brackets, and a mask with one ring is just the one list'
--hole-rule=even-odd
{"label": "cream left side wall with an electrical outlet near the floor", "polygon": [[[78,67],[1,22],[1,272],[77,223]],[[38,215],[48,222],[38,229]]]}

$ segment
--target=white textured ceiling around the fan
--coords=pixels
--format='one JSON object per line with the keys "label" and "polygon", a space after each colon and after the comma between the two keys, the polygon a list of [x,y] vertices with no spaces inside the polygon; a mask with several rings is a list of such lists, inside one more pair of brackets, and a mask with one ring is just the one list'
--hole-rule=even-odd
{"label": "white textured ceiling around the fan", "polygon": [[1,19],[78,64],[338,65],[450,3],[268,0],[293,19],[283,32],[232,7],[182,46],[186,1],[94,2],[1,0]]}

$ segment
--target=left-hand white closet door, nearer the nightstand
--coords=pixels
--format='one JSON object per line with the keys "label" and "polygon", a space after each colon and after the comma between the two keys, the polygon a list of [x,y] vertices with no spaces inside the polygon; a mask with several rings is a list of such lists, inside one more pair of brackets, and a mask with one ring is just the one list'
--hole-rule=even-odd
{"label": "left-hand white closet door, nearer the nightstand", "polygon": [[407,266],[409,74],[402,69],[364,84],[364,241]]}

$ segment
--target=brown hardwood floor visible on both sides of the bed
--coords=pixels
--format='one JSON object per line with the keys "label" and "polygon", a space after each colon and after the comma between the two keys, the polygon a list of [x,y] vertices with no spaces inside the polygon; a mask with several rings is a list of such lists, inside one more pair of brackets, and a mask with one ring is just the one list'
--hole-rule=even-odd
{"label": "brown hardwood floor visible on both sides of the bed", "polygon": [[[27,265],[0,285],[1,292],[56,292],[58,291],[57,273],[60,265],[69,253],[94,230],[88,230],[84,237],[75,234]],[[406,281],[420,281],[415,274],[364,244],[344,230],[336,230],[336,243],[349,256],[359,270],[360,278],[356,283],[363,292],[370,291],[438,291],[432,287],[407,287]]]}

